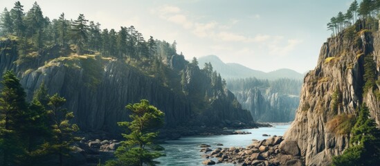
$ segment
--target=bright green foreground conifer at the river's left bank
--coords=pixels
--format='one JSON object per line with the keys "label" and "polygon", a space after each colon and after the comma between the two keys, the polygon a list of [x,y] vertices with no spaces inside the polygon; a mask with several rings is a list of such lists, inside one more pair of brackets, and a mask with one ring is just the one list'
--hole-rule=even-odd
{"label": "bright green foreground conifer at the river's left bank", "polygon": [[116,160],[107,162],[107,165],[155,165],[155,158],[163,156],[159,151],[163,147],[154,144],[159,135],[157,131],[163,126],[164,113],[149,104],[147,100],[140,103],[128,104],[127,109],[131,111],[129,118],[132,122],[118,122],[120,127],[127,127],[127,132],[122,133],[127,140],[121,142],[115,152]]}

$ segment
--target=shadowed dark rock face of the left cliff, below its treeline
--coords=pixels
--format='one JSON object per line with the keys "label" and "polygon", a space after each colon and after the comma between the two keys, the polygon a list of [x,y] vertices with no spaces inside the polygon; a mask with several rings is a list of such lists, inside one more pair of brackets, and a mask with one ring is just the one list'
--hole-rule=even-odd
{"label": "shadowed dark rock face of the left cliff, below its treeline", "polygon": [[[206,125],[226,125],[224,120],[251,122],[248,111],[233,107],[235,96],[228,90],[215,95],[212,103],[196,110],[198,101],[194,96],[208,89],[208,80],[202,79],[199,68],[190,68],[188,62],[174,55],[171,67],[174,71],[194,73],[188,75],[188,94],[179,93],[165,86],[158,78],[146,75],[125,62],[98,55],[60,57],[56,48],[35,53],[30,62],[17,63],[18,51],[15,41],[0,42],[0,72],[12,69],[17,73],[26,90],[28,100],[44,82],[49,94],[59,93],[66,98],[66,107],[73,111],[82,131],[107,131],[116,134],[116,122],[128,120],[125,105],[147,99],[165,112],[165,126],[177,124],[198,125],[203,118]],[[28,59],[28,57],[23,58]],[[197,73],[198,72],[198,73]],[[175,72],[173,72],[175,73]],[[192,80],[202,80],[191,84]],[[218,97],[219,96],[219,97]],[[118,134],[117,134],[118,135]]]}

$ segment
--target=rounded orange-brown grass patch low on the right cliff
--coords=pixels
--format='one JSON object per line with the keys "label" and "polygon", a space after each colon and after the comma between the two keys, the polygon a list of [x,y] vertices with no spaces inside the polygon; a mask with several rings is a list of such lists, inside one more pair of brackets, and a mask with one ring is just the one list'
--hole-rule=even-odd
{"label": "rounded orange-brown grass patch low on the right cliff", "polygon": [[336,135],[349,134],[355,122],[356,116],[354,114],[342,113],[327,122],[327,130]]}

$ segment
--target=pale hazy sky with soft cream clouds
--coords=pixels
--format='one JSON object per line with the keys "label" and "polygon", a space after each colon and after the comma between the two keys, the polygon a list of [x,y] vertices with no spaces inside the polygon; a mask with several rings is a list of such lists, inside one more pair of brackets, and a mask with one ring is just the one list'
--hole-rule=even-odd
{"label": "pale hazy sky with soft cream clouds", "polygon": [[[34,1],[20,1],[27,12]],[[39,0],[44,16],[77,19],[101,28],[135,26],[145,39],[172,43],[186,59],[217,55],[224,62],[261,71],[291,68],[300,73],[316,65],[330,36],[326,24],[351,0]],[[0,0],[0,8],[15,1]]]}

